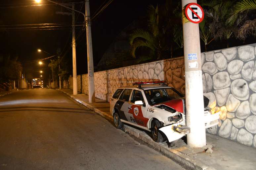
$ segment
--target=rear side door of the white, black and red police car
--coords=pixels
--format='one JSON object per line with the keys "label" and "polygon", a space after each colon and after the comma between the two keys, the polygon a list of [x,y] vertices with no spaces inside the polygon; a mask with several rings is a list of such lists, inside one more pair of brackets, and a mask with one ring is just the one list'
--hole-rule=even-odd
{"label": "rear side door of the white, black and red police car", "polygon": [[116,101],[115,108],[118,110],[118,114],[121,120],[129,122],[129,108],[132,104],[129,103],[132,89],[124,89],[119,99]]}

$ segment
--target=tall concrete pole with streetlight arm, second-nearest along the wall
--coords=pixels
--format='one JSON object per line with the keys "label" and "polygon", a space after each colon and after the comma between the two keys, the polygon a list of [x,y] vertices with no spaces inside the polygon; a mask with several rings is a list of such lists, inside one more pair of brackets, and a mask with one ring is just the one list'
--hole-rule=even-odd
{"label": "tall concrete pole with streetlight arm, second-nearest along the wall", "polygon": [[87,42],[89,103],[92,103],[92,102],[95,102],[95,87],[94,87],[93,50],[92,50],[92,33],[91,33],[89,0],[85,0],[85,23],[86,23],[86,42]]}

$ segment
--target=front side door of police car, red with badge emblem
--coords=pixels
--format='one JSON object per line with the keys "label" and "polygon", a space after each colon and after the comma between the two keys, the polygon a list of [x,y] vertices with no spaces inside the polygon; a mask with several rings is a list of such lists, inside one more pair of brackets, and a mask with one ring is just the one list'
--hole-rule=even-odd
{"label": "front side door of police car, red with badge emblem", "polygon": [[[146,105],[145,105],[145,99],[143,97],[143,91],[141,90],[133,90],[132,96],[131,96],[131,107],[129,108],[129,114],[130,114],[130,122],[135,123],[137,125],[147,127],[147,123],[149,119],[146,117]],[[135,101],[142,100],[144,103],[143,105],[137,105],[135,104]]]}

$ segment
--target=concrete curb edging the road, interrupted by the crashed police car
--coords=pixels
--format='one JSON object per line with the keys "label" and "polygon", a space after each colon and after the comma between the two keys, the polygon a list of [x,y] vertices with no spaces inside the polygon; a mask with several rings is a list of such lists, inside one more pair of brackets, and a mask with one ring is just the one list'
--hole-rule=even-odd
{"label": "concrete curb edging the road, interrupted by the crashed police car", "polygon": [[[104,118],[106,118],[109,122],[113,123],[113,118],[112,116],[108,115],[107,113],[100,111],[99,109],[95,108],[94,106],[75,98],[74,96],[56,89],[62,93],[64,93],[65,95],[71,97],[72,99],[76,100],[77,102],[83,104],[84,106],[88,107],[89,109],[95,111],[96,113],[98,113],[99,115],[103,116]],[[172,158],[173,160],[180,162],[181,164],[186,165],[189,168],[195,169],[195,170],[215,170],[215,168],[210,167],[205,165],[203,162],[193,159],[190,156],[187,156],[181,152],[179,152],[176,149],[171,149],[168,148],[168,146],[164,145],[163,143],[157,143],[154,142],[151,137],[144,131],[138,130],[136,128],[124,125],[124,131],[130,133],[131,135],[141,139],[143,142],[147,143],[148,145],[152,146],[153,148],[155,148],[157,151],[163,153],[164,155]]]}

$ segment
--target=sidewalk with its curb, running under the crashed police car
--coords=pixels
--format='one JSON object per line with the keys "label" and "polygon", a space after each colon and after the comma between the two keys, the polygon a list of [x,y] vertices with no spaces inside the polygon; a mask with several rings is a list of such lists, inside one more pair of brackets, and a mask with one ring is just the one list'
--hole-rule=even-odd
{"label": "sidewalk with its curb, running under the crashed police car", "polygon": [[[109,103],[105,100],[96,99],[95,103],[88,103],[87,95],[72,95],[73,91],[70,89],[62,89],[61,91],[76,101],[84,104],[96,113],[102,115],[110,122],[113,122],[113,118],[109,112]],[[192,169],[256,169],[255,148],[246,147],[222,137],[206,134],[207,146],[205,148],[190,148],[181,139],[175,144],[174,147],[168,148],[166,142],[154,142],[145,131],[141,131],[140,129],[133,128],[128,125],[124,126],[124,130],[148,143],[159,152],[162,152],[166,156],[169,156]],[[212,148],[212,153],[205,152],[205,150],[209,147]]]}

